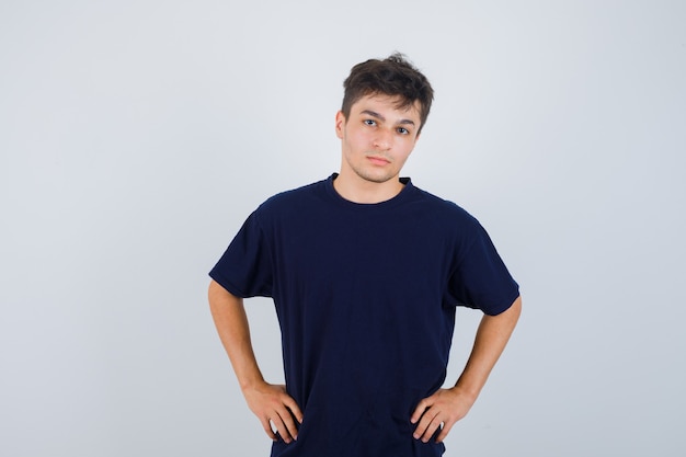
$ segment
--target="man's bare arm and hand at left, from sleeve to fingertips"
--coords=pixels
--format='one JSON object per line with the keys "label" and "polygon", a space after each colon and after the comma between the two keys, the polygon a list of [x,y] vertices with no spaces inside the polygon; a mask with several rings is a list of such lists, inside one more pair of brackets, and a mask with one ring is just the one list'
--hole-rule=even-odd
{"label": "man's bare arm and hand at left, from sleeve to fingertips", "polygon": [[298,433],[294,416],[302,422],[302,413],[295,400],[286,393],[284,386],[267,384],[262,377],[250,340],[243,299],[230,294],[215,281],[209,284],[208,298],[217,332],[229,355],[248,407],[260,419],[272,439],[277,436],[272,431],[270,421],[281,437],[290,443],[297,438]]}

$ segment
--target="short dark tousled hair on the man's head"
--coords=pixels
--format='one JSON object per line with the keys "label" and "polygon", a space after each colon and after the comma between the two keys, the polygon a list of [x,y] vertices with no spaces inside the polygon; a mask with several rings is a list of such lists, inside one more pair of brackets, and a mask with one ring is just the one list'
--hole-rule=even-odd
{"label": "short dark tousled hair on the man's head", "polygon": [[421,125],[418,134],[426,123],[434,100],[434,90],[426,77],[400,53],[384,60],[369,59],[357,64],[343,82],[343,88],[341,111],[345,118],[350,117],[353,104],[366,95],[397,95],[400,98],[399,108],[408,108],[419,102]]}

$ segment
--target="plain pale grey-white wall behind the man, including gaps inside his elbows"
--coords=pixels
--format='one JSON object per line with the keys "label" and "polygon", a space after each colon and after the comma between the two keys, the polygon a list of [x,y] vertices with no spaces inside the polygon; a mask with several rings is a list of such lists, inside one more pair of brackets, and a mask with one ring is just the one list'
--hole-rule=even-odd
{"label": "plain pale grey-white wall behind the man, including gaps inside his elbows", "polygon": [[2,1],[0,455],[268,455],[207,272],[338,171],[343,79],[400,50],[436,91],[403,175],[481,220],[525,305],[446,455],[683,456],[685,24],[676,0]]}

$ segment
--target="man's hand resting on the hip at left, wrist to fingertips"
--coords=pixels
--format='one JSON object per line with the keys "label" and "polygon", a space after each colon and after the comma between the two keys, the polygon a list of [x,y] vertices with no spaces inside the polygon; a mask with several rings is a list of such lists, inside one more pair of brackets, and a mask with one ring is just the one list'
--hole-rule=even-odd
{"label": "man's hand resting on the hip at left, wrist to fingertips", "polygon": [[298,424],[302,423],[302,412],[293,397],[286,392],[286,386],[261,382],[243,389],[243,396],[270,438],[278,439],[272,430],[272,423],[285,443],[298,438],[296,421]]}

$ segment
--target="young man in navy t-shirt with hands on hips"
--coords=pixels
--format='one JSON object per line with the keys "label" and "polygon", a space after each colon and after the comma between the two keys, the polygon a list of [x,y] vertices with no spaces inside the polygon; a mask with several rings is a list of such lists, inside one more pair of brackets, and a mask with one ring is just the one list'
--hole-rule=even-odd
{"label": "young man in navy t-shirt with hands on hips", "polygon": [[[399,178],[431,108],[426,78],[392,55],[353,67],[344,88],[340,172],[248,218],[210,272],[210,309],[273,457],[441,456],[516,324],[518,286],[473,217]],[[253,296],[275,302],[285,386],[255,362]],[[456,306],[484,316],[445,389]]]}

